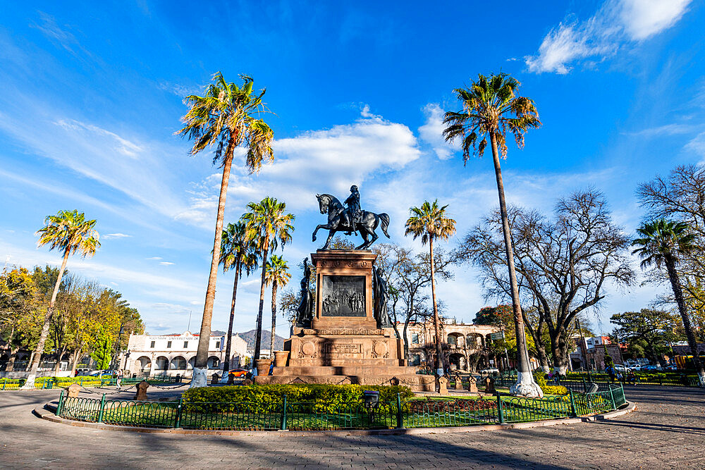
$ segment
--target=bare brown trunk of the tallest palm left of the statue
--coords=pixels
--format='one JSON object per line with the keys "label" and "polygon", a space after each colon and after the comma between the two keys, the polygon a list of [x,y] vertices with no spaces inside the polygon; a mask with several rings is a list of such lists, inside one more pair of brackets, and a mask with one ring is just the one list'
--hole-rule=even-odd
{"label": "bare brown trunk of the tallest palm left of the statue", "polygon": [[211,271],[208,276],[208,287],[206,288],[206,301],[203,304],[203,316],[201,319],[201,330],[198,337],[198,348],[196,350],[196,361],[193,365],[193,377],[190,387],[205,387],[207,385],[208,374],[208,347],[211,342],[211,320],[213,318],[213,304],[216,299],[216,278],[218,278],[218,265],[220,261],[220,245],[223,237],[223,218],[225,216],[225,199],[228,194],[228,183],[230,181],[230,170],[233,164],[233,150],[235,144],[233,140],[228,143],[225,161],[223,161],[223,179],[221,180],[221,192],[218,199],[218,216],[216,217],[216,234],[213,240],[213,253],[211,258]]}

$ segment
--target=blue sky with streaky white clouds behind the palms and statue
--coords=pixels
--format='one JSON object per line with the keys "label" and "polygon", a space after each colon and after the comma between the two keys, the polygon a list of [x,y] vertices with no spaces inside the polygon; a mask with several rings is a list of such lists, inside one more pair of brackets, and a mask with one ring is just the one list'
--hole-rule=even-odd
{"label": "blue sky with streaky white clouds behind the palms and statue", "polygon": [[[705,157],[705,10],[689,0],[77,5],[3,5],[0,261],[58,264],[33,234],[48,214],[85,211],[102,247],[69,270],[123,292],[150,333],[184,330],[189,311],[191,329],[200,323],[219,170],[173,132],[185,94],[217,70],[266,86],[276,138],[274,165],[233,168],[226,220],[268,194],[286,202],[292,266],[319,246],[317,192],[345,197],[357,184],[363,209],[390,214],[392,241],[419,249],[403,237],[410,206],[449,204],[448,247],[496,206],[491,159],[463,167],[440,136],[443,112],[458,108],[453,88],[477,73],[514,75],[544,124],[503,163],[513,204],[550,211],[593,186],[633,231],[637,184]],[[219,276],[214,329],[227,326],[231,283]],[[608,294],[597,330],[655,292]],[[237,330],[254,328],[258,295],[253,276]],[[439,295],[459,320],[486,304],[467,266]]]}

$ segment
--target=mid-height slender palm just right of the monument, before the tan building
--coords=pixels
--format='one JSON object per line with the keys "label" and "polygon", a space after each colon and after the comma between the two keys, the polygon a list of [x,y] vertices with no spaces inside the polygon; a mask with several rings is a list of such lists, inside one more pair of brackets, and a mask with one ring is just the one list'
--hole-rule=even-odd
{"label": "mid-height slender palm just right of the monument, before the tan building", "polygon": [[434,266],[434,240],[448,240],[455,233],[455,221],[446,217],[446,206],[440,207],[438,199],[433,203],[424,201],[421,207],[409,209],[411,216],[406,221],[404,235],[413,235],[414,240],[421,237],[422,245],[429,244],[431,260],[431,298],[434,302],[434,330],[436,333],[436,369],[443,373],[443,356],[441,351],[441,327],[439,308],[436,302],[436,267]]}

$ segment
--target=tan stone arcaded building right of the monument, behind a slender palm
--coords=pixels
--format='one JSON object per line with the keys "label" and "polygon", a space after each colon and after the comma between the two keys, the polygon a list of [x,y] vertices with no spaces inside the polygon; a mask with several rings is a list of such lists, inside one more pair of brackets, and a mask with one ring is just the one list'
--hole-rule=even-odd
{"label": "tan stone arcaded building right of the monument, behind a slender palm", "polygon": [[[398,325],[400,332],[403,324]],[[451,370],[474,371],[489,366],[496,366],[496,361],[489,348],[492,334],[501,335],[499,328],[490,325],[472,323],[444,322],[441,328],[441,345],[446,356],[446,366]],[[497,337],[495,337],[497,338]],[[424,369],[434,369],[436,334],[433,321],[427,323],[410,323],[406,332],[409,345],[409,365]]]}

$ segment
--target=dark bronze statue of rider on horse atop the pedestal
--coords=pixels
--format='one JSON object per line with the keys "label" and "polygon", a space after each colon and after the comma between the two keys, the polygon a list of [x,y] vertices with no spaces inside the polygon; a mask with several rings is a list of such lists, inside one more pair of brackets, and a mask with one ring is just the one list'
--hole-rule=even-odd
{"label": "dark bronze statue of rider on horse atop the pedestal", "polygon": [[[319,228],[329,230],[328,240],[323,249],[329,249],[328,245],[333,240],[333,235],[336,232],[344,232],[345,235],[351,235],[360,232],[364,243],[355,249],[367,249],[374,243],[377,238],[374,230],[377,225],[381,225],[382,233],[389,238],[387,227],[389,226],[389,216],[387,214],[374,214],[374,212],[360,210],[360,192],[357,191],[357,186],[350,187],[350,196],[345,199],[345,206],[335,196],[331,194],[316,194],[318,198],[319,209],[321,214],[328,214],[328,223],[317,225],[313,231],[313,241],[316,241],[316,233]],[[370,240],[369,237],[372,236]]]}

